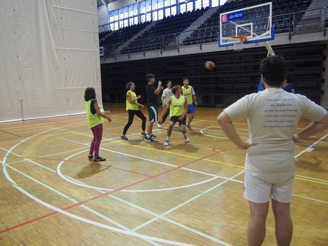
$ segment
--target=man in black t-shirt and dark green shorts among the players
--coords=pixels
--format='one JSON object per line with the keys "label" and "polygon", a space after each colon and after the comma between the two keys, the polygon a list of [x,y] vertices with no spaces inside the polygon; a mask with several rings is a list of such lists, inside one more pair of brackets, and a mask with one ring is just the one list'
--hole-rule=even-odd
{"label": "man in black t-shirt and dark green shorts among the players", "polygon": [[158,94],[161,90],[163,90],[162,82],[158,80],[157,88],[154,86],[155,84],[155,75],[147,74],[146,75],[148,85],[146,86],[146,94],[147,94],[147,108],[149,114],[149,124],[147,129],[147,136],[145,136],[145,140],[148,142],[154,142],[153,138],[156,136],[153,132],[153,125],[155,121],[158,121]]}

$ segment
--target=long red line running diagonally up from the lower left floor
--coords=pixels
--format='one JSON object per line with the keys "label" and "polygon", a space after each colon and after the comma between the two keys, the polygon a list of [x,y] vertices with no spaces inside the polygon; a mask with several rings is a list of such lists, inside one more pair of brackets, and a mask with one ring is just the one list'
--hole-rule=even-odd
{"label": "long red line running diagonally up from the lower left floor", "polygon": [[[159,177],[159,176],[161,176],[161,175],[164,175],[164,174],[170,173],[170,172],[172,172],[172,171],[174,171],[174,170],[177,170],[177,169],[180,169],[180,168],[186,167],[187,165],[190,165],[190,164],[192,164],[192,163],[194,163],[194,162],[197,162],[197,161],[199,161],[199,160],[202,160],[202,159],[208,158],[208,157],[210,157],[210,156],[213,156],[213,155],[216,155],[216,154],[222,152],[222,151],[216,151],[215,148],[213,148],[213,151],[214,151],[215,153],[213,153],[213,154],[211,154],[211,155],[208,155],[208,156],[204,156],[204,157],[198,158],[198,159],[196,159],[196,160],[193,160],[193,161],[190,161],[190,162],[188,162],[188,163],[185,163],[185,164],[183,164],[183,165],[181,165],[181,166],[179,166],[179,167],[175,167],[175,168],[173,168],[173,169],[170,169],[170,170],[168,170],[168,171],[166,171],[166,172],[162,172],[162,173],[156,174],[156,175],[154,175],[154,176],[150,176],[150,177],[148,177],[148,178],[141,179],[141,180],[139,180],[139,181],[137,181],[137,182],[131,183],[130,185],[127,185],[127,186],[124,186],[124,187],[118,188],[118,189],[116,189],[116,190],[113,190],[113,191],[110,191],[110,192],[107,192],[107,193],[101,194],[101,195],[99,195],[99,196],[95,196],[95,197],[90,198],[90,199],[88,199],[88,200],[85,200],[85,201],[81,201],[81,202],[78,202],[78,203],[72,204],[71,206],[68,206],[68,207],[66,207],[66,208],[64,208],[64,209],[61,209],[61,210],[66,211],[66,210],[69,210],[69,209],[75,208],[75,207],[80,206],[80,205],[82,205],[82,204],[84,204],[84,203],[87,203],[87,202],[89,202],[89,201],[96,200],[96,199],[98,199],[98,198],[101,198],[101,197],[104,197],[104,196],[108,196],[108,195],[110,195],[110,194],[112,194],[112,193],[115,193],[115,192],[118,192],[118,191],[120,191],[120,190],[124,190],[124,189],[126,189],[126,188],[129,188],[129,187],[132,187],[132,186],[138,185],[138,184],[141,183],[141,182],[145,182],[145,181],[147,181],[147,180],[150,180],[150,179],[153,179],[153,178]],[[28,220],[28,221],[25,221],[25,222],[23,222],[23,223],[16,224],[16,226],[13,226],[13,227],[10,227],[10,228],[7,228],[7,229],[5,229],[5,230],[0,231],[0,234],[3,234],[3,233],[8,232],[8,231],[11,231],[11,230],[16,229],[16,228],[18,228],[18,227],[25,226],[26,224],[30,224],[30,223],[32,223],[32,222],[34,222],[34,221],[38,221],[38,220],[41,220],[41,219],[47,218],[47,217],[49,217],[49,216],[51,216],[51,215],[54,215],[54,214],[57,214],[57,213],[59,213],[59,212],[55,211],[55,212],[52,212],[52,213],[45,214],[45,215],[43,215],[43,216],[40,216],[40,217],[34,218],[34,219],[32,219],[32,220]]]}

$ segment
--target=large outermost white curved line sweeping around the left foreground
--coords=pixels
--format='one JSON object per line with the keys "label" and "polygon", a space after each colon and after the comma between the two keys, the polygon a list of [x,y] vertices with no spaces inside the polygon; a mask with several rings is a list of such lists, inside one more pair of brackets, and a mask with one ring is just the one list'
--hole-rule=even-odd
{"label": "large outermost white curved line sweeping around the left foreground", "polygon": [[[74,124],[72,124],[74,125]],[[66,127],[66,126],[63,126],[63,127]],[[52,130],[52,129],[51,129]],[[47,130],[45,132],[48,132],[48,131],[51,131],[51,130]],[[117,228],[114,228],[114,227],[110,227],[110,226],[107,226],[105,224],[102,224],[102,223],[98,223],[98,222],[95,222],[95,221],[92,221],[92,220],[89,220],[89,219],[86,219],[86,218],[83,218],[83,217],[79,217],[77,215],[74,215],[74,214],[71,214],[69,212],[66,212],[64,210],[61,210],[61,209],[58,209],[54,206],[52,206],[51,204],[47,203],[47,202],[44,202],[43,200],[40,200],[39,198],[33,196],[32,194],[28,193],[27,191],[25,191],[24,189],[20,188],[17,186],[17,184],[12,180],[12,178],[9,176],[8,172],[7,172],[7,168],[6,168],[6,160],[7,160],[7,156],[11,153],[11,151],[13,149],[15,149],[18,145],[22,144],[23,142],[27,141],[28,139],[30,138],[33,138],[39,134],[43,134],[45,132],[41,132],[41,133],[38,133],[38,134],[35,134],[33,136],[30,136],[28,138],[25,138],[23,139],[22,141],[18,142],[16,145],[14,145],[13,147],[11,147],[7,153],[5,154],[3,160],[2,160],[2,166],[3,166],[3,173],[5,175],[5,177],[9,180],[9,182],[11,182],[11,184],[17,189],[19,190],[20,192],[24,193],[26,196],[30,197],[31,199],[33,199],[34,201],[40,203],[40,204],[43,204],[43,206],[47,207],[47,208],[50,208],[52,210],[55,210],[61,214],[64,214],[66,216],[69,216],[71,218],[75,218],[77,220],[80,220],[80,221],[83,221],[83,222],[86,222],[86,223],[89,223],[89,224],[93,224],[94,226],[98,226],[98,227],[101,227],[101,228],[104,228],[104,229],[108,229],[108,230],[111,230],[111,231],[115,231],[115,232],[120,232],[122,234],[127,234],[127,235],[130,235],[130,236],[135,236],[135,237],[139,237],[139,238],[142,238],[142,239],[150,239],[150,240],[154,240],[154,241],[158,241],[158,242],[164,242],[164,243],[169,243],[169,244],[173,244],[173,245],[181,245],[181,246],[189,246],[191,244],[188,244],[188,243],[181,243],[181,242],[176,242],[176,241],[170,241],[170,240],[166,240],[166,239],[161,239],[161,238],[156,238],[156,237],[151,237],[151,236],[146,236],[146,235],[142,235],[142,234],[138,234],[138,233],[133,233],[133,232],[128,232],[128,231],[124,231],[122,229],[117,229]]]}

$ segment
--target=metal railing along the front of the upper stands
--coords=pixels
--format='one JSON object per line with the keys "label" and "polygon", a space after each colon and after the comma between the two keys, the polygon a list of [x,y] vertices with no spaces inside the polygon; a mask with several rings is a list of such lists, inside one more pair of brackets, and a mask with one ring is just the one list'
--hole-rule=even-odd
{"label": "metal railing along the front of the upper stands", "polygon": [[[315,10],[319,11],[319,16],[317,16],[317,14],[303,15],[305,12],[313,12]],[[304,19],[302,20],[302,16],[306,16],[305,21]],[[275,33],[288,33],[289,38],[291,38],[292,35],[300,33],[321,31],[323,31],[323,35],[325,35],[327,17],[326,7],[323,7],[274,15],[272,21],[275,26]],[[302,23],[299,24],[301,20]],[[106,28],[105,26],[108,25],[103,25],[101,27]],[[217,42],[218,40],[219,26],[197,28],[191,31],[192,32],[177,32],[136,39],[128,45],[124,42],[112,45],[106,45],[106,43],[103,43],[101,46],[104,46],[104,58],[116,58],[119,55],[128,55],[130,57],[132,53],[142,53],[146,56],[146,52],[150,50],[159,50],[160,53],[165,50],[179,51],[181,46],[188,45],[199,45],[199,49],[202,49],[203,44]]]}

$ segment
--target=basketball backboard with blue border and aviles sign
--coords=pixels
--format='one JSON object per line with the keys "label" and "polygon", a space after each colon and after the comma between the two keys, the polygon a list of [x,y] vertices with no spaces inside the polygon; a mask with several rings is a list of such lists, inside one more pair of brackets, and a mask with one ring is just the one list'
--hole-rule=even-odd
{"label": "basketball backboard with blue border and aviles sign", "polygon": [[[235,35],[234,35],[235,34]],[[234,45],[239,34],[247,35],[243,44],[265,42],[274,39],[272,3],[259,4],[220,14],[219,47]]]}

